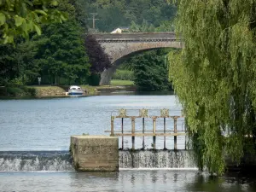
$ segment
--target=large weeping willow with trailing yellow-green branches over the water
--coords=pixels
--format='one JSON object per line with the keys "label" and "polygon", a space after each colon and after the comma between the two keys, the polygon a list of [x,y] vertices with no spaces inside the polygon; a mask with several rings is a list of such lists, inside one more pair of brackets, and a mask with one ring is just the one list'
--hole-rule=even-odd
{"label": "large weeping willow with trailing yellow-green branches over the water", "polygon": [[256,0],[177,0],[169,77],[201,170],[222,174],[255,152]]}

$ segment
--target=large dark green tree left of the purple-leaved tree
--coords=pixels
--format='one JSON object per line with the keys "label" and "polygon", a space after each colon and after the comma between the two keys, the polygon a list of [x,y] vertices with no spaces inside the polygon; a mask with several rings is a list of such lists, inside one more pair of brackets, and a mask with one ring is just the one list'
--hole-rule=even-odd
{"label": "large dark green tree left of the purple-leaved tree", "polygon": [[67,13],[69,20],[45,26],[44,34],[40,38],[33,38],[38,42],[36,62],[41,67],[41,74],[51,77],[55,84],[59,83],[60,78],[67,79],[67,84],[86,84],[90,63],[75,8],[68,0],[64,0],[58,9]]}

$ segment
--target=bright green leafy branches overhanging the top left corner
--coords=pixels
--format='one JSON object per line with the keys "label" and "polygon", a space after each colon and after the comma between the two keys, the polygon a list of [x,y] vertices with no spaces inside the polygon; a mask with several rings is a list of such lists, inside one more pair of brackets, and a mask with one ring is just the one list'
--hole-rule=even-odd
{"label": "bright green leafy branches overhanging the top left corner", "polygon": [[0,1],[0,44],[14,43],[16,37],[28,38],[29,32],[41,34],[40,24],[62,22],[66,16],[56,0],[2,0]]}

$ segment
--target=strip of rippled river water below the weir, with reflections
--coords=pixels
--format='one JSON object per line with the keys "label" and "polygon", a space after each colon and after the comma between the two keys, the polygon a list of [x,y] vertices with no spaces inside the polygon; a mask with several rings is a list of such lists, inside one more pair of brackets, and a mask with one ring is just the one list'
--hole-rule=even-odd
{"label": "strip of rippled river water below the weir, with reflections", "polygon": [[[12,184],[9,184],[12,183]],[[255,191],[255,180],[195,171],[0,172],[3,191]]]}

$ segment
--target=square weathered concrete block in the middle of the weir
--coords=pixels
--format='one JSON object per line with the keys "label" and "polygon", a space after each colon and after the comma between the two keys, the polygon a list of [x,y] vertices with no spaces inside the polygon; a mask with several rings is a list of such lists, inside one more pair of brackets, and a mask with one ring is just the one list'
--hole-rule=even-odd
{"label": "square weathered concrete block in the middle of the weir", "polygon": [[118,137],[72,136],[70,151],[77,171],[119,171]]}

